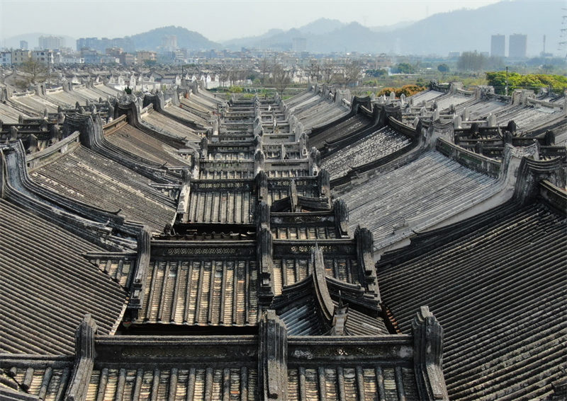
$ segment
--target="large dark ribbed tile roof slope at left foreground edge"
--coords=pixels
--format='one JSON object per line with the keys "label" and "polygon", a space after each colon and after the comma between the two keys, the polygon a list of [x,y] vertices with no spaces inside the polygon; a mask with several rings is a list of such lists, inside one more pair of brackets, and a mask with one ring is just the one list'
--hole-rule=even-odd
{"label": "large dark ribbed tile roof slope at left foreground edge", "polygon": [[85,313],[111,332],[126,291],[82,256],[101,248],[4,199],[0,227],[0,352],[71,354]]}

